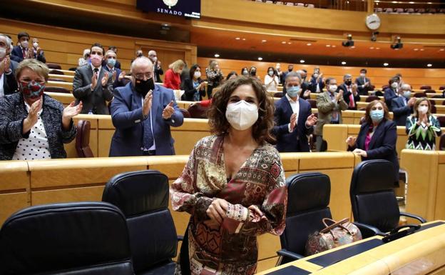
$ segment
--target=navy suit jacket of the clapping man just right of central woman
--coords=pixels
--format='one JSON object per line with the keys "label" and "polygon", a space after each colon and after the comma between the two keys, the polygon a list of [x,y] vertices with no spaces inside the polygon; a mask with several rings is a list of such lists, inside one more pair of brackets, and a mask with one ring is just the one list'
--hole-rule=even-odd
{"label": "navy suit jacket of the clapping man just right of central woman", "polygon": [[312,114],[310,103],[305,99],[298,99],[300,111],[297,126],[292,133],[289,132],[290,116],[293,111],[287,96],[283,96],[275,103],[275,126],[272,133],[277,138],[277,150],[280,152],[309,152],[307,135],[314,131],[314,127],[307,128],[307,117]]}

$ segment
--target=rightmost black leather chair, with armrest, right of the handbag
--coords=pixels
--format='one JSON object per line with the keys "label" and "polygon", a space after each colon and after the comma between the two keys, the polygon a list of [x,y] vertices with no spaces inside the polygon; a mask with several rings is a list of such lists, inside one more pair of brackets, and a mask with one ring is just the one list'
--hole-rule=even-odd
{"label": "rightmost black leather chair, with armrest, right of the handbag", "polygon": [[384,235],[399,226],[400,216],[425,219],[399,211],[394,194],[394,165],[384,159],[362,161],[352,173],[349,196],[356,224],[362,236]]}

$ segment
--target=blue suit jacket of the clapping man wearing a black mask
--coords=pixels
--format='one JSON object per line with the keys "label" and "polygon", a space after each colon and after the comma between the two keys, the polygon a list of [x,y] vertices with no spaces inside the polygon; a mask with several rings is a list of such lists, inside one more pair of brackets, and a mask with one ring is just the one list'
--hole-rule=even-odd
{"label": "blue suit jacket of the clapping man wearing a black mask", "polygon": [[[174,102],[175,112],[170,119],[163,119],[163,109],[170,101]],[[151,116],[156,155],[174,155],[174,140],[170,134],[170,126],[183,125],[184,116],[176,104],[173,90],[155,84]],[[143,151],[140,150],[143,141],[142,96],[134,90],[131,82],[124,87],[114,89],[111,120],[116,131],[111,139],[110,156],[142,156]]]}

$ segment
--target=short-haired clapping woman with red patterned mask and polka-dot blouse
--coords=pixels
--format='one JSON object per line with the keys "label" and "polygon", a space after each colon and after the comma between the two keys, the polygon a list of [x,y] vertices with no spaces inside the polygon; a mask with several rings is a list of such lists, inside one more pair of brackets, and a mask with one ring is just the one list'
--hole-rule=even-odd
{"label": "short-haired clapping woman with red patterned mask and polka-dot blouse", "polygon": [[19,93],[0,99],[0,160],[66,158],[63,144],[76,137],[73,116],[82,103],[63,105],[44,94],[48,67],[25,59],[15,71]]}

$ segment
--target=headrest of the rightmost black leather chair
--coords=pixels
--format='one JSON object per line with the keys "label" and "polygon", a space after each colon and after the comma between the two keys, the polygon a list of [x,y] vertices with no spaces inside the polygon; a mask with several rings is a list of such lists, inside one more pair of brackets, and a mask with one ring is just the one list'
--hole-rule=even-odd
{"label": "headrest of the rightmost black leather chair", "polygon": [[385,159],[362,161],[354,168],[351,194],[369,193],[394,189],[394,165]]}

